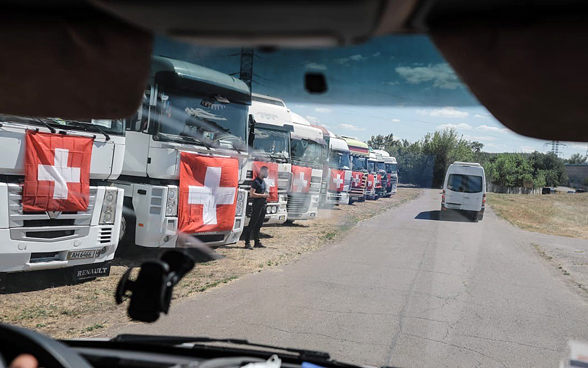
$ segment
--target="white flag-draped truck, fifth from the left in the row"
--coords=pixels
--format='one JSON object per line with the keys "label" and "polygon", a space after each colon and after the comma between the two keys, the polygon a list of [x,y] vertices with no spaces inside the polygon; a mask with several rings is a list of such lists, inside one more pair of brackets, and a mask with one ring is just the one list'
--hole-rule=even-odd
{"label": "white flag-draped truck, fifth from the left in the row", "polygon": [[351,185],[351,155],[347,143],[324,127],[313,125],[322,130],[328,151],[323,160],[323,183],[321,187],[321,205],[334,206],[349,203]]}

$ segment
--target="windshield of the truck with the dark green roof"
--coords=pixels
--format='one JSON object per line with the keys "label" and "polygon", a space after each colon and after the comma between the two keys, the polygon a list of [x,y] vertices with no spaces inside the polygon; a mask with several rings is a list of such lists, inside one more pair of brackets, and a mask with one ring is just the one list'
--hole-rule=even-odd
{"label": "windshield of the truck with the dark green roof", "polygon": [[226,148],[246,146],[247,106],[243,104],[217,96],[161,93],[158,105],[158,133],[204,138]]}

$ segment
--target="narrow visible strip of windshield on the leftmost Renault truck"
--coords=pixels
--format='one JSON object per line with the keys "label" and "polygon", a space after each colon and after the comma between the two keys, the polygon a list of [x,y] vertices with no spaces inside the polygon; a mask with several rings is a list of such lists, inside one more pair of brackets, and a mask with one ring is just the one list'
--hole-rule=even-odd
{"label": "narrow visible strip of windshield on the leftmost Renault truck", "polygon": [[123,135],[125,132],[124,120],[64,120],[60,118],[31,118],[26,116],[0,115],[0,121],[4,123],[19,123],[26,125],[50,125],[56,129],[71,129],[98,133]]}

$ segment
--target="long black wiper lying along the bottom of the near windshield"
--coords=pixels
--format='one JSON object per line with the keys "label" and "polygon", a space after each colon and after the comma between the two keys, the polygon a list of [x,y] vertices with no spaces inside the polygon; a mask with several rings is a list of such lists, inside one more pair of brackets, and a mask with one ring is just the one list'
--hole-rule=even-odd
{"label": "long black wiper lying along the bottom of the near windshield", "polygon": [[[113,337],[110,341],[113,342],[127,342],[127,343],[141,343],[141,344],[155,344],[155,345],[181,345],[181,344],[194,344],[198,343],[226,343],[233,345],[246,345],[256,348],[271,349],[271,350],[282,350],[298,354],[301,358],[314,358],[321,360],[329,360],[331,356],[329,353],[316,350],[296,349],[296,348],[285,348],[281,346],[257,344],[249,342],[245,339],[214,339],[209,337],[189,337],[189,336],[162,336],[162,335],[136,335],[136,334],[121,334]],[[222,347],[221,347],[222,348]]]}

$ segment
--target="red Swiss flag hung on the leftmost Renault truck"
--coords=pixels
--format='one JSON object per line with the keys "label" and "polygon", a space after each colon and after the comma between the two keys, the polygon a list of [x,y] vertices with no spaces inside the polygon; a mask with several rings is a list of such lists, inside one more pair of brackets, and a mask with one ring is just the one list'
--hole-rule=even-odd
{"label": "red Swiss flag hung on the leftmost Renault truck", "polygon": [[93,143],[92,138],[28,130],[23,211],[86,211]]}

